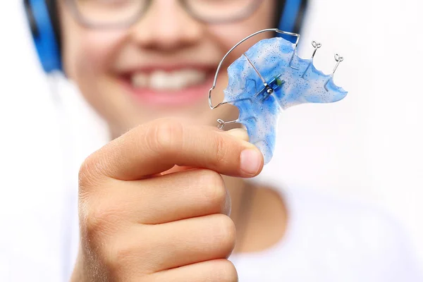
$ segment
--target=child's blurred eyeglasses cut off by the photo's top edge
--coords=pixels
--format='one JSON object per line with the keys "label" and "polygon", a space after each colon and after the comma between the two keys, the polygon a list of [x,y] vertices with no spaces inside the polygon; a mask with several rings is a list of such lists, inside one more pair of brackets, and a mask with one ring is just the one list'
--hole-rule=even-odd
{"label": "child's blurred eyeglasses cut off by the photo's top edge", "polygon": [[[129,27],[148,11],[152,0],[65,0],[75,19],[86,27]],[[178,0],[203,23],[231,23],[254,13],[263,0]],[[160,20],[158,18],[157,20]]]}

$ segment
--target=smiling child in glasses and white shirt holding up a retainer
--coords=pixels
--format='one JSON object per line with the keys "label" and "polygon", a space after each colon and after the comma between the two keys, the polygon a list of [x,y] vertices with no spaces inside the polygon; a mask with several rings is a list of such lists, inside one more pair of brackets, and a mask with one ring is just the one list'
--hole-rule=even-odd
{"label": "smiling child in glasses and white shirt holding up a retainer", "polygon": [[[390,221],[245,181],[262,155],[244,130],[215,128],[237,115],[209,110],[217,64],[243,37],[274,27],[284,1],[51,4],[63,71],[111,135],[80,168],[71,281],[417,281]],[[227,82],[219,77],[214,101]]]}

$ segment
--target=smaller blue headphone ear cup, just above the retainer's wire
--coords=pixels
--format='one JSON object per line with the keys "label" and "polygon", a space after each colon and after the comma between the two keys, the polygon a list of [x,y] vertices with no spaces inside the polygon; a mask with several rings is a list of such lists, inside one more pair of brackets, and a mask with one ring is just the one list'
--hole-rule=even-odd
{"label": "smaller blue headphone ear cup, just above the retainer's wire", "polygon": [[[307,3],[307,0],[286,0],[279,21],[279,30],[299,33]],[[289,35],[281,35],[281,37],[293,43],[296,40],[296,37]]]}

